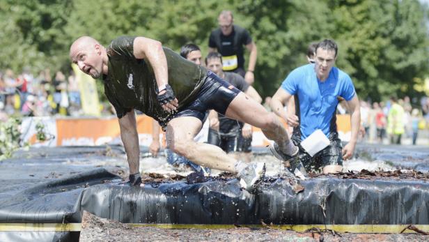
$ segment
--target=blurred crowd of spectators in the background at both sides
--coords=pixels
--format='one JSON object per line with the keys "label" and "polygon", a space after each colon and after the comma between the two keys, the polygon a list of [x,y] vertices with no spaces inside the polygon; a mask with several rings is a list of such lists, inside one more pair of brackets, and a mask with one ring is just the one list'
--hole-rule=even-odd
{"label": "blurred crowd of spectators in the background at both sides", "polygon": [[[265,107],[268,108],[265,100]],[[79,116],[81,96],[74,73],[61,71],[52,75],[49,68],[33,76],[29,68],[15,75],[13,70],[0,71],[0,121],[9,116]],[[347,109],[338,105],[338,114]],[[401,144],[411,139],[416,144],[421,130],[429,126],[429,97],[412,104],[408,96],[386,102],[361,101],[361,139],[380,144]]]}

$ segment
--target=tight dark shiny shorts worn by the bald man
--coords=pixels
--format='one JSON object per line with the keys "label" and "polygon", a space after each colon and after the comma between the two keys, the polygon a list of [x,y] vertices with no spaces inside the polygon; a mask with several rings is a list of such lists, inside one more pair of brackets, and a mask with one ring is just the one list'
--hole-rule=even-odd
{"label": "tight dark shiny shorts worn by the bald man", "polygon": [[206,111],[209,109],[225,114],[238,93],[240,93],[239,89],[209,71],[196,100],[179,109],[178,113],[173,115],[173,119],[180,116],[194,116],[203,123]]}

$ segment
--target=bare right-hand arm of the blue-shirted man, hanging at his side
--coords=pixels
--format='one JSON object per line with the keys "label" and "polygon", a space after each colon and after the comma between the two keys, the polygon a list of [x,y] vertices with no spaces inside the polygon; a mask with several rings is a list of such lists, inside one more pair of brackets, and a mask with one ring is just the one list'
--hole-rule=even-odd
{"label": "bare right-hand arm of the blue-shirted man, hanging at his side", "polygon": [[350,137],[350,142],[348,142],[348,144],[346,144],[343,148],[344,160],[348,160],[353,156],[354,147],[356,146],[357,142],[357,133],[359,132],[359,126],[361,123],[361,107],[359,105],[359,98],[357,98],[357,94],[354,94],[353,98],[347,102],[347,106],[350,112],[352,135]]}

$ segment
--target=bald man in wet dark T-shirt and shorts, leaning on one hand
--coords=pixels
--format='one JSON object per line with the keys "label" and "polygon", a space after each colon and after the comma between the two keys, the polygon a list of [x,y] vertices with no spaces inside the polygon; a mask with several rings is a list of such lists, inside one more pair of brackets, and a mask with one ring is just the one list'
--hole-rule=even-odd
{"label": "bald man in wet dark T-shirt and shorts, leaning on one hand", "polygon": [[118,116],[132,185],[141,183],[134,109],[153,117],[166,130],[169,149],[198,165],[237,174],[241,186],[249,191],[263,176],[265,164],[247,165],[217,146],[194,141],[208,109],[260,128],[274,140],[276,152],[286,158],[297,154],[297,146],[274,114],[157,40],[121,36],[104,48],[84,36],[70,47],[70,59],[84,73],[102,77],[104,93]]}

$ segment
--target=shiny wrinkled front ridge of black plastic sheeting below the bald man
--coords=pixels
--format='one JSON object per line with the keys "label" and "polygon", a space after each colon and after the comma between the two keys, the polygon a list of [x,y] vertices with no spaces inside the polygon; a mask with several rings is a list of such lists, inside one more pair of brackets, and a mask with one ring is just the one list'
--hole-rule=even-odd
{"label": "shiny wrinkled front ridge of black plastic sheeting below the bald man", "polygon": [[[289,181],[256,195],[221,181],[158,188],[98,185],[86,189],[81,209],[132,223],[396,225],[428,224],[429,184],[412,181],[311,179],[295,194]],[[104,204],[104,206],[100,206]]]}

